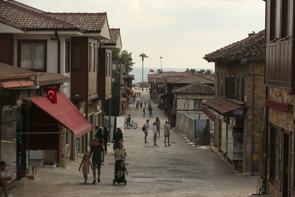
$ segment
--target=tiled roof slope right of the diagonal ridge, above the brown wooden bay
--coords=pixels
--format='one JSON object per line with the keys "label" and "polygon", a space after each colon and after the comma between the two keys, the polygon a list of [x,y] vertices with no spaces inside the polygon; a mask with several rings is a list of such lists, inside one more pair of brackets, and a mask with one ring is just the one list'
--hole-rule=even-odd
{"label": "tiled roof slope right of the diagonal ridge, above the brown wooden bay", "polygon": [[58,20],[67,21],[77,25],[78,28],[85,31],[101,32],[104,23],[107,22],[107,13],[52,13],[44,12]]}

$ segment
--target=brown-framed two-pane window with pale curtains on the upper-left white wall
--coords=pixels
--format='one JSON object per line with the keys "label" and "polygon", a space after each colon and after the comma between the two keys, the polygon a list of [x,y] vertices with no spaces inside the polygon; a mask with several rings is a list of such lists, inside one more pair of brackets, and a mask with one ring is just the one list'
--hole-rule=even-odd
{"label": "brown-framed two-pane window with pale curtains on the upper-left white wall", "polygon": [[47,40],[18,40],[18,67],[46,72]]}

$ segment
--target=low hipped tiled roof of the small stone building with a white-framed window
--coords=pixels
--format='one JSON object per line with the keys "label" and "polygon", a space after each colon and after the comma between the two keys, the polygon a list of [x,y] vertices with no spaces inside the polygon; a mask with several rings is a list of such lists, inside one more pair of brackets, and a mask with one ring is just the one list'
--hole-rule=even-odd
{"label": "low hipped tiled roof of the small stone building with a white-framed window", "polygon": [[214,94],[214,87],[194,82],[187,86],[183,86],[177,90],[173,90],[172,93],[177,94]]}

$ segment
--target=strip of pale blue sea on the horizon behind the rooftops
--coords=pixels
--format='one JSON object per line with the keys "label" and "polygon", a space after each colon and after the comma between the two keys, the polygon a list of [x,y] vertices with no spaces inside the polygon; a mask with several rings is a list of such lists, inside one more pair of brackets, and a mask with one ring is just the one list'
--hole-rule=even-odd
{"label": "strip of pale blue sea on the horizon behind the rooftops", "polygon": [[[153,73],[150,73],[150,69],[151,70],[158,70],[160,68],[144,68],[144,82],[147,82],[148,81],[148,74],[153,74]],[[175,71],[175,72],[184,72],[186,71],[187,69],[186,68],[162,68],[163,69],[163,72],[167,72],[167,71]],[[196,70],[201,70],[201,69],[210,69],[210,68],[196,68]],[[215,69],[210,69],[212,70],[212,73],[215,72]],[[134,74],[134,80],[132,81],[132,84],[135,84],[135,83],[139,83],[139,82],[142,82],[142,67],[133,67],[133,70],[129,73],[129,74]]]}

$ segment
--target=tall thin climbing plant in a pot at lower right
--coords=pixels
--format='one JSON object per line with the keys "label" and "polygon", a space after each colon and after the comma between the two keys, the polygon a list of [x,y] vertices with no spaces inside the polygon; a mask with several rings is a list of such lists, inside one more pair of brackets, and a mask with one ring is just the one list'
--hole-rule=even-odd
{"label": "tall thin climbing plant in a pot at lower right", "polygon": [[259,163],[256,194],[248,194],[248,197],[258,196],[258,195],[259,197],[269,197],[270,196],[269,192],[266,191],[267,179],[266,179],[266,175],[263,173],[265,168],[267,167],[267,161],[268,161],[268,152],[266,152],[266,147],[265,147],[265,138],[267,133],[265,132],[263,121],[258,121],[254,124],[256,127],[256,132],[253,132],[253,133],[254,133],[255,139],[260,144],[258,151],[260,151],[261,153],[261,160]]}

